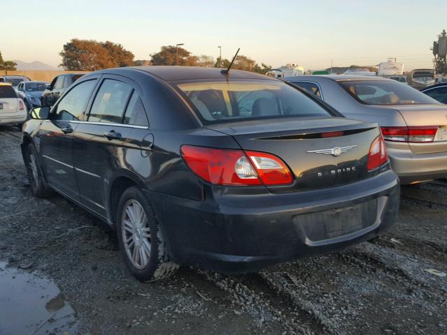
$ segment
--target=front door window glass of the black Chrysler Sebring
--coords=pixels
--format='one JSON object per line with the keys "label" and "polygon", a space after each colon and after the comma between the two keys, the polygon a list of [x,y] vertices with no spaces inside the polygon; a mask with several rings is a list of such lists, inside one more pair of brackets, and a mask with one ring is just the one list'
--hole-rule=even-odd
{"label": "front door window glass of the black Chrysler Sebring", "polygon": [[96,85],[96,80],[81,82],[73,87],[59,102],[52,119],[74,121],[79,120],[87,107],[91,91]]}

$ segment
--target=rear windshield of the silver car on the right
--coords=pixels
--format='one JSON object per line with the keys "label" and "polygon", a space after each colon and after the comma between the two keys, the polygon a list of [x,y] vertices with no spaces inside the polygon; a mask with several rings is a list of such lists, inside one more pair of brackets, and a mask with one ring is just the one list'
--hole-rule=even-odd
{"label": "rear windshield of the silver car on the right", "polygon": [[417,89],[413,89],[395,80],[349,80],[338,83],[351,96],[368,105],[438,103]]}

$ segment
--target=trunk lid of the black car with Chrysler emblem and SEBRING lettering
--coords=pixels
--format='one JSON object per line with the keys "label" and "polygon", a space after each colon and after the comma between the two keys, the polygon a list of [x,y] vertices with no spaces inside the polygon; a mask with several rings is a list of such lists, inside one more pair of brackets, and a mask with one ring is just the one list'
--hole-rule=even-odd
{"label": "trunk lid of the black car with Chrysler emblem and SEBRING lettering", "polygon": [[326,188],[365,179],[376,124],[342,117],[262,119],[208,126],[235,138],[244,150],[281,158],[291,169],[291,186],[269,186],[271,192]]}

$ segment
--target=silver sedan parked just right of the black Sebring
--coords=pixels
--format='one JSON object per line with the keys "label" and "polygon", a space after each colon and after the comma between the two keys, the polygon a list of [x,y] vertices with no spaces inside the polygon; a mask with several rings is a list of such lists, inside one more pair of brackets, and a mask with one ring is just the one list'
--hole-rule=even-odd
{"label": "silver sedan parked just right of the black Sebring", "polygon": [[344,116],[381,126],[392,168],[402,184],[447,177],[447,105],[381,77],[286,77]]}

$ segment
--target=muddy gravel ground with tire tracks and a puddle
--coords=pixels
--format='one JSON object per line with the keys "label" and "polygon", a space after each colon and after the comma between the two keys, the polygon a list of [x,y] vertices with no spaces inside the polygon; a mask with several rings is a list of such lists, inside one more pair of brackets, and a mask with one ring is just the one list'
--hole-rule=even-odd
{"label": "muddy gravel ground with tire tracks and a puddle", "polygon": [[[115,234],[24,186],[20,132],[0,127],[0,334],[447,334],[447,182],[403,187],[375,243],[259,274],[124,269]],[[20,313],[18,312],[20,311]]]}

